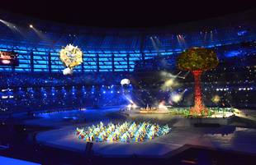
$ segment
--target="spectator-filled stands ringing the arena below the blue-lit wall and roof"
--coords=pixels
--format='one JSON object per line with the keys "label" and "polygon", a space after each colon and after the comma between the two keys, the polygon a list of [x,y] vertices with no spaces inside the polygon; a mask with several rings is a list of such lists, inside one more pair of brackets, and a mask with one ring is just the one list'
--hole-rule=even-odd
{"label": "spectator-filled stands ringing the arena below the blue-lit wall and roof", "polygon": [[[223,53],[223,57],[220,56],[220,64],[216,68],[201,75],[203,103],[211,106],[256,106],[255,46],[255,42],[250,42],[214,48],[217,54]],[[231,50],[235,51],[235,56]],[[142,106],[149,103],[157,107],[162,101],[167,105],[192,106],[194,77],[187,71],[180,73],[170,58],[155,57],[147,59],[144,64],[138,62],[138,66],[145,65],[147,72],[136,72],[135,69],[133,73],[108,71],[69,76],[62,73],[0,73],[1,89],[13,89],[0,91],[0,112],[119,105],[130,103],[127,98]],[[132,85],[121,86],[124,78],[130,79]],[[172,82],[168,84],[168,80]],[[172,100],[173,95],[182,94],[185,89],[182,99]]]}

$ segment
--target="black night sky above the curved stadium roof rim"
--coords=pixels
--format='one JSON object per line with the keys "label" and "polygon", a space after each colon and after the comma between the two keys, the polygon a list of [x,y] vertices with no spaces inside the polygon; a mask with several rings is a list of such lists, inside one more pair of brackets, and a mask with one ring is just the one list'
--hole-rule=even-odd
{"label": "black night sky above the curved stadium roof rim", "polygon": [[1,0],[0,8],[25,16],[73,25],[146,28],[225,16],[254,9],[256,2],[255,0]]}

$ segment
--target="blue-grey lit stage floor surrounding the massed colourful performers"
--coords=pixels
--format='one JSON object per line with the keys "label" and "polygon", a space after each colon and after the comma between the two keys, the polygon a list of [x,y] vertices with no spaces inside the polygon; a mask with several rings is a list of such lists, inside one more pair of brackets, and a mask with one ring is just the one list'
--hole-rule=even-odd
{"label": "blue-grey lit stage floor surrounding the massed colourful performers", "polygon": [[[235,117],[220,118],[218,120],[232,120],[228,124],[218,127],[195,127],[183,126],[178,123],[196,121],[198,118],[184,118],[179,115],[168,115],[164,112],[159,114],[140,114],[138,110],[125,111],[126,114],[108,113],[119,111],[120,108],[112,107],[103,110],[88,109],[86,111],[55,112],[36,114],[35,120],[25,121],[28,125],[51,126],[54,130],[38,132],[36,140],[42,144],[74,152],[84,153],[87,144],[74,135],[77,127],[97,125],[103,123],[121,121],[152,121],[160,124],[168,124],[173,130],[168,135],[163,135],[154,140],[145,142],[92,142],[92,150],[105,158],[124,158],[131,154],[137,154],[140,158],[169,158],[172,155],[187,149],[187,144],[209,147],[213,149],[228,149],[249,154],[256,154],[256,114],[251,110],[250,116],[246,117],[243,111]],[[107,114],[106,114],[107,112]],[[103,114],[105,113],[105,114]],[[64,117],[79,116],[86,117],[87,122],[67,122]],[[207,119],[206,119],[207,120]],[[210,120],[208,120],[210,121]],[[215,123],[215,122],[213,122]]]}

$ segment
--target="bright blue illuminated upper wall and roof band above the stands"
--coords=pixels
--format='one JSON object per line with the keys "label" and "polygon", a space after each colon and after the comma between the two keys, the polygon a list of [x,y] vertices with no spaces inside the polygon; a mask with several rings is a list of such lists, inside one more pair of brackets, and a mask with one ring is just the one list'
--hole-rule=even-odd
{"label": "bright blue illuminated upper wall and roof band above the stands", "polygon": [[107,29],[63,25],[0,10],[0,50],[13,50],[20,58],[19,66],[1,66],[0,71],[61,72],[59,50],[67,44],[83,50],[83,64],[74,73],[134,71],[135,62],[158,55],[172,57],[187,48],[255,40],[255,16],[242,21],[238,17],[226,22],[223,17],[148,29]]}

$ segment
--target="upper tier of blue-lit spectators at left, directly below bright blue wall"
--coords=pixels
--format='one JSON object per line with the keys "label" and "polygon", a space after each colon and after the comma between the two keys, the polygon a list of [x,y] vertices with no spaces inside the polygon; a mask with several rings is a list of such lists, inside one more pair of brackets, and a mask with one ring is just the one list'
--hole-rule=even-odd
{"label": "upper tier of blue-lit spectators at left, directly below bright blue wall", "polygon": [[77,73],[64,76],[62,73],[0,73],[1,87],[69,86],[120,84],[129,73],[99,72]]}

